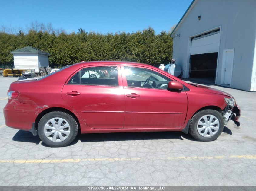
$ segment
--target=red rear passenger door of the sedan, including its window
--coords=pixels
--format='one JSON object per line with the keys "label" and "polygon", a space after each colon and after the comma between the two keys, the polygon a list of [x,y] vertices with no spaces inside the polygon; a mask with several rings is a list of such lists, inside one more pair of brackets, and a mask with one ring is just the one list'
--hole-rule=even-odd
{"label": "red rear passenger door of the sedan, including its window", "polygon": [[82,68],[68,79],[61,94],[91,128],[123,128],[125,98],[119,65]]}

